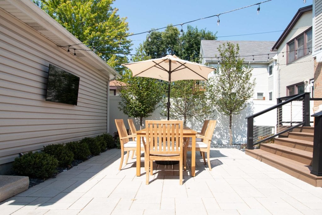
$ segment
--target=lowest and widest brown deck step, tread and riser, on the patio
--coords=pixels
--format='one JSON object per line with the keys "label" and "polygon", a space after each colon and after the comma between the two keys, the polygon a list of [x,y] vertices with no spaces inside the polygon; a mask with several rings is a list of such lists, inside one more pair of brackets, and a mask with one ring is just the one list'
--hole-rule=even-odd
{"label": "lowest and widest brown deck step, tread and riser, on the patio", "polygon": [[322,176],[311,174],[312,167],[262,149],[245,150],[245,153],[257,160],[269,164],[315,187],[322,187]]}

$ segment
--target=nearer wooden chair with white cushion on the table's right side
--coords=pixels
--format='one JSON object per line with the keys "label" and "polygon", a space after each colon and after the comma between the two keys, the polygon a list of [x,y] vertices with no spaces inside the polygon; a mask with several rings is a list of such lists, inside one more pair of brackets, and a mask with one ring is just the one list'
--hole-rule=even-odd
{"label": "nearer wooden chair with white cushion on the table's right side", "polygon": [[[207,161],[208,161],[208,168],[211,171],[211,165],[210,165],[210,143],[211,143],[211,139],[213,137],[213,132],[215,130],[216,127],[216,120],[210,120],[208,127],[205,131],[204,135],[197,135],[198,138],[201,138],[202,141],[197,141],[196,138],[196,151],[200,151],[201,155],[204,159],[204,164],[206,165],[206,160],[205,160],[205,152],[207,152]],[[184,161],[186,161],[186,156],[187,156],[187,151],[192,151],[191,147],[192,147],[192,142],[189,142],[186,146],[185,149],[185,158]],[[186,163],[184,163],[184,165],[186,165]],[[184,167],[185,168],[185,167]]]}

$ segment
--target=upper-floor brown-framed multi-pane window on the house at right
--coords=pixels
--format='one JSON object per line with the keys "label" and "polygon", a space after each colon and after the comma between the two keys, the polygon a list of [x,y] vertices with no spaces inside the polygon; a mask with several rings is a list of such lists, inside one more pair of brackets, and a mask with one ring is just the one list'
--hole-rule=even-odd
{"label": "upper-floor brown-framed multi-pane window on the house at right", "polygon": [[288,63],[295,61],[304,55],[310,54],[312,51],[312,28],[291,40],[287,44],[287,48]]}

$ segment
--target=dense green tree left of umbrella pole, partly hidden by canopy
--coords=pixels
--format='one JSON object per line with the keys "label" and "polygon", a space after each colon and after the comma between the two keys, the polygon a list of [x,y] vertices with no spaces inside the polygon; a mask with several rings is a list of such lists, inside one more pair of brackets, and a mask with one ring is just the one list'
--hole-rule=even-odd
{"label": "dense green tree left of umbrella pole, partly hidden by canopy", "polygon": [[[133,61],[149,59],[143,55],[145,55],[143,46],[140,45],[136,55],[133,56]],[[132,77],[131,70],[126,69],[125,71],[121,81],[127,85],[118,87],[121,97],[118,109],[129,117],[139,117],[141,129],[143,117],[150,116],[164,97],[165,83],[153,78]]]}

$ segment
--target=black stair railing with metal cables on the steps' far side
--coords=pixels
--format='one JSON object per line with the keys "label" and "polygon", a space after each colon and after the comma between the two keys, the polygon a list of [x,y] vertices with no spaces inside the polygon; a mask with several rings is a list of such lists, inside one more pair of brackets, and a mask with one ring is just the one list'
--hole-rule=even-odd
{"label": "black stair railing with metal cables on the steps' far side", "polygon": [[[304,109],[305,109],[305,111],[303,112],[303,122],[300,122],[297,125],[293,125],[290,128],[283,130],[282,132],[278,132],[278,133],[276,133],[274,135],[271,135],[271,136],[269,136],[269,137],[267,137],[265,139],[262,139],[262,140],[260,140],[260,141],[258,141],[258,142],[256,142],[254,144],[254,142],[253,142],[254,141],[253,140],[253,136],[254,136],[254,131],[253,131],[254,117],[260,116],[260,115],[262,115],[264,113],[267,113],[267,112],[269,112],[271,110],[274,110],[276,108],[281,108],[283,105],[285,105],[287,103],[290,103],[290,102],[293,102],[295,100],[298,100],[298,99],[300,99],[302,97],[303,97],[303,104],[304,104],[303,106],[304,106]],[[284,102],[281,102],[283,99],[288,99],[288,100],[286,100]],[[281,98],[278,98],[277,101],[278,101],[278,104],[245,118],[245,119],[247,119],[247,146],[246,146],[247,149],[254,149],[254,145],[257,145],[257,144],[259,144],[261,142],[267,141],[267,140],[269,140],[271,138],[274,138],[274,137],[276,137],[276,136],[278,136],[278,135],[280,135],[282,133],[288,132],[288,131],[290,131],[290,130],[298,127],[298,126],[301,126],[301,125],[310,126],[310,113],[309,113],[310,93],[309,92],[300,93],[298,95],[293,95],[293,96],[281,97]],[[278,116],[278,120],[277,120],[278,122],[277,123],[281,123],[281,122],[279,122],[279,119],[280,118]]]}

